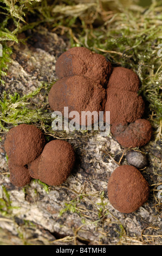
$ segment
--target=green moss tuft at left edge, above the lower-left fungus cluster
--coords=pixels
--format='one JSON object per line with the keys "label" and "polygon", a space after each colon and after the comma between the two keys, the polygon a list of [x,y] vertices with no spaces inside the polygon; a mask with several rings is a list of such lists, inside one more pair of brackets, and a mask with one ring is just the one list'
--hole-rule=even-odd
{"label": "green moss tuft at left edge, above the lower-left fungus cluster", "polygon": [[8,131],[8,125],[40,123],[51,119],[47,109],[36,108],[29,101],[44,87],[46,86],[41,84],[36,90],[22,97],[18,93],[8,94],[4,91],[0,100],[0,131]]}

